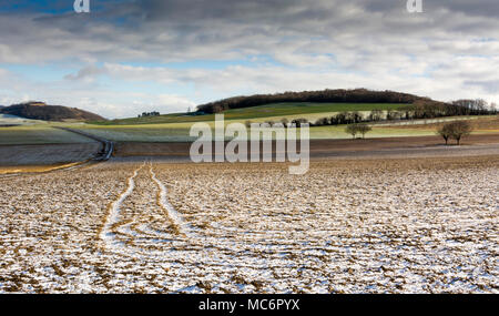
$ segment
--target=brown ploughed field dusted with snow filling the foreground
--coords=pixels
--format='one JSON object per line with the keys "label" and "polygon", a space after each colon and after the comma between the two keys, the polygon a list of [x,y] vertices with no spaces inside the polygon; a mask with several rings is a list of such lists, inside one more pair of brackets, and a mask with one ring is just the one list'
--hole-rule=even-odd
{"label": "brown ploughed field dusted with snow filling the foreground", "polygon": [[0,177],[0,292],[498,293],[499,157]]}

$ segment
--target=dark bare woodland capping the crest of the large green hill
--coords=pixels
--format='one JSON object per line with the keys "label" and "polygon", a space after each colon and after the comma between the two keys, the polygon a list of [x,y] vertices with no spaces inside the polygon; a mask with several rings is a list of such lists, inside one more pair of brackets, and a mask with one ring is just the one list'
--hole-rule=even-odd
{"label": "dark bare woodland capping the crest of the large green hill", "polygon": [[249,96],[234,96],[220,101],[197,105],[198,112],[220,113],[230,109],[258,106],[283,102],[338,102],[338,103],[406,103],[416,101],[435,102],[429,98],[395,91],[373,91],[367,89],[336,89],[322,91],[284,92],[275,94],[255,94]]}

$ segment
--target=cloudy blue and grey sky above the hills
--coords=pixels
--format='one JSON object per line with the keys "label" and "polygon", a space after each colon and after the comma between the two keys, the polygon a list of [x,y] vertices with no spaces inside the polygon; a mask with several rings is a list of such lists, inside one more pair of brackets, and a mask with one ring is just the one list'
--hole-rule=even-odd
{"label": "cloudy blue and grey sky above the hills", "polygon": [[0,0],[0,104],[108,119],[285,91],[394,90],[499,103],[499,2]]}

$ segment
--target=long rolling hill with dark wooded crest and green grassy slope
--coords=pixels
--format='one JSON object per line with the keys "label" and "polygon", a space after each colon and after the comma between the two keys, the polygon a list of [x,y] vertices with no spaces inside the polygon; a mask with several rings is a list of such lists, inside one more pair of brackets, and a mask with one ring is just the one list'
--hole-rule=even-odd
{"label": "long rolling hill with dark wooded crest and green grassy slope", "polygon": [[223,113],[225,120],[244,121],[268,118],[279,121],[282,118],[293,119],[296,115],[304,115],[305,119],[315,121],[320,115],[328,116],[337,112],[396,111],[415,104],[424,104],[425,106],[449,105],[429,98],[394,91],[338,89],[234,96],[197,105],[193,113],[172,113],[92,123],[99,125],[192,123],[213,121],[216,113]]}

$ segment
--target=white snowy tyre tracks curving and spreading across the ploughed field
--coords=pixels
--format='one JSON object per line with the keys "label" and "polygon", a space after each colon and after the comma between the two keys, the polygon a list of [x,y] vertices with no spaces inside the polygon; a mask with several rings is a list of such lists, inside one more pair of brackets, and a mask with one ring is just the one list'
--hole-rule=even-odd
{"label": "white snowy tyre tracks curving and spreading across the ploughed field", "polygon": [[[146,170],[147,164],[149,170]],[[143,177],[147,177],[152,186],[147,184],[144,187],[146,182]],[[153,208],[134,210],[136,211],[133,212],[134,215],[123,218],[129,200],[133,202],[140,198],[141,191],[144,188],[151,191],[154,184],[157,187],[157,191],[154,190],[156,191],[155,200],[153,196],[149,196],[149,200],[143,202],[154,202],[156,214],[162,214],[173,227],[174,232],[170,234],[154,232],[154,228],[150,226],[151,223],[140,221],[143,216],[151,215],[150,212]],[[116,258],[125,261],[146,259],[157,262],[159,265],[182,264],[189,267],[204,262],[208,266],[225,267],[236,255],[232,248],[235,242],[220,236],[206,236],[191,226],[183,214],[169,202],[167,193],[166,185],[157,177],[151,161],[144,162],[134,170],[128,179],[125,191],[110,205],[105,224],[100,233],[100,239],[104,245],[103,249]],[[138,230],[138,227],[140,228]],[[243,242],[242,249],[247,252],[252,245],[245,244]],[[261,252],[258,255],[246,254],[244,263],[231,264],[231,266],[257,271],[268,271],[271,267],[277,266],[272,254],[262,255]]]}

